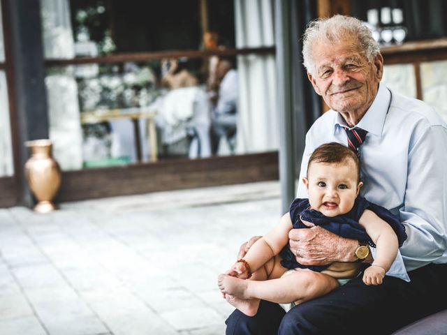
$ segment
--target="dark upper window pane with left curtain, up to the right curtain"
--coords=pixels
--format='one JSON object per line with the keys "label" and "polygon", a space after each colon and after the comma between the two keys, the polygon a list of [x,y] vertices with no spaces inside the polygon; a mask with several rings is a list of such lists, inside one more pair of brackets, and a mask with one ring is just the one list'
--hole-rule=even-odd
{"label": "dark upper window pane with left curtain, up to the right curtain", "polygon": [[[45,57],[200,50],[203,31],[234,47],[233,0],[42,0]],[[205,15],[205,17],[203,17]],[[207,23],[204,23],[207,22]]]}

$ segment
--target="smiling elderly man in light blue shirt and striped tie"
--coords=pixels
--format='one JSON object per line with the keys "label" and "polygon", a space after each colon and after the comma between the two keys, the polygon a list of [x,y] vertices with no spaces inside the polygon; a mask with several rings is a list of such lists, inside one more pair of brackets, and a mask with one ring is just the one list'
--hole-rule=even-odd
{"label": "smiling elderly man in light blue shirt and striped tie", "polygon": [[[406,228],[400,253],[411,282],[386,277],[382,285],[367,286],[359,276],[288,313],[261,301],[252,318],[233,312],[227,334],[390,334],[447,308],[447,126],[430,106],[380,84],[383,57],[359,20],[316,20],[303,43],[309,80],[331,110],[306,135],[300,179],[320,144],[339,142],[357,151],[362,195],[390,209]],[[302,185],[298,198],[307,198]],[[292,230],[289,237],[303,265],[374,260],[374,248],[321,227]]]}

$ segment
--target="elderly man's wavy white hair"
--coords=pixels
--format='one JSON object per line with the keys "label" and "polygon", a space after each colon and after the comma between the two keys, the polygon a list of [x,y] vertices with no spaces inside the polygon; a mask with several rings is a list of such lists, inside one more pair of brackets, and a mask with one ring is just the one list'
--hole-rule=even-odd
{"label": "elderly man's wavy white hair", "polygon": [[358,39],[359,51],[365,52],[368,61],[372,61],[380,53],[379,43],[372,38],[369,28],[355,17],[334,15],[309,22],[302,41],[302,58],[307,71],[312,75],[316,73],[312,58],[312,47],[316,43],[327,41],[337,43],[353,37]]}

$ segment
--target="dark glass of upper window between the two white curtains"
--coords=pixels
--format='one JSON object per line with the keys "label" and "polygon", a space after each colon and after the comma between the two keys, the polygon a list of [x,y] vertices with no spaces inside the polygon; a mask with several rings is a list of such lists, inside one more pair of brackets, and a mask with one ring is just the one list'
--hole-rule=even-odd
{"label": "dark glass of upper window between the two white curtains", "polygon": [[201,1],[207,2],[206,28],[200,27],[199,2],[157,1],[154,7],[154,1],[71,0],[74,40],[93,45],[98,56],[200,50],[202,30],[219,29],[223,43],[234,46],[233,0]]}

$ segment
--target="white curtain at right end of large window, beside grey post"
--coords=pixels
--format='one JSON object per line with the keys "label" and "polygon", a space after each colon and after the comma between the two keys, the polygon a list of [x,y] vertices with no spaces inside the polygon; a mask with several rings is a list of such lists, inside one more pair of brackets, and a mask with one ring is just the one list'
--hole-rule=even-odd
{"label": "white curtain at right end of large window, beside grey post", "polygon": [[[271,0],[235,0],[236,47],[274,46]],[[278,113],[275,106],[274,55],[237,59],[240,100],[237,119],[238,154],[277,150]]]}

